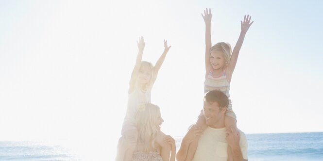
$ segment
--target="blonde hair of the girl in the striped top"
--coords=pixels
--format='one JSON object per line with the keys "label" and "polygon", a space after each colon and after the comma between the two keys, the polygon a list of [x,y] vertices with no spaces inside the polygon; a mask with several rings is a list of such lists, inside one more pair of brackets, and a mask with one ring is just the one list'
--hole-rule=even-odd
{"label": "blonde hair of the girl in the striped top", "polygon": [[231,50],[231,45],[229,43],[224,43],[224,42],[219,42],[217,44],[215,44],[211,50],[210,50],[210,54],[212,52],[219,52],[223,54],[223,57],[225,59],[225,62],[227,65],[230,64],[230,59],[231,59],[231,54],[232,54],[232,50]]}

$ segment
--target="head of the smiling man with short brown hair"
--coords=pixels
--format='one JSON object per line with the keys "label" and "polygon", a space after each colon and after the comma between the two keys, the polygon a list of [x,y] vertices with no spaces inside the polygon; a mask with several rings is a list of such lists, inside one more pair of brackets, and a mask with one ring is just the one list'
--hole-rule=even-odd
{"label": "head of the smiling man with short brown hair", "polygon": [[229,98],[219,90],[209,91],[204,96],[204,117],[211,128],[224,128],[224,116]]}

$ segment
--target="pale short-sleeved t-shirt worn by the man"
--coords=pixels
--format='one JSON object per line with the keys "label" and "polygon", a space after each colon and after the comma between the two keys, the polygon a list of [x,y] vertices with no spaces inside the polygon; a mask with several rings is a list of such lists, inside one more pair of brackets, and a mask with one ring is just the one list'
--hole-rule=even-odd
{"label": "pale short-sleeved t-shirt worn by the man", "polygon": [[[248,160],[248,143],[246,135],[240,131],[240,148],[242,157]],[[199,139],[193,161],[227,161],[227,141],[225,140],[225,128],[214,129],[207,127]]]}

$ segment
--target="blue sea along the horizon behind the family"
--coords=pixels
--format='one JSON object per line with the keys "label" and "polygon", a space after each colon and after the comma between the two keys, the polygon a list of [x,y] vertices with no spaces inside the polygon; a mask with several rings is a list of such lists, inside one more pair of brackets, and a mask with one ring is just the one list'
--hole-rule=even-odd
{"label": "blue sea along the horizon behind the family", "polygon": [[[246,136],[249,144],[249,161],[323,161],[323,132],[246,134]],[[182,137],[175,139],[178,149]],[[91,161],[72,151],[73,149],[62,145],[50,145],[44,142],[2,141],[0,161]],[[106,150],[107,153],[109,151]],[[102,154],[105,155],[115,154]]]}

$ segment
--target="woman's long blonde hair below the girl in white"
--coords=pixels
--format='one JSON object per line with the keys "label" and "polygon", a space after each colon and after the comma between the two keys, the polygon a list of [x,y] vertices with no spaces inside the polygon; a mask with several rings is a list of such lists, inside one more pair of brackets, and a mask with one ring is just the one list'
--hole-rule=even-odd
{"label": "woman's long blonde hair below the girl in white", "polygon": [[155,138],[160,131],[157,129],[156,121],[160,117],[159,107],[151,104],[139,104],[136,113],[136,124],[138,129],[138,141],[144,145],[145,151],[150,147],[155,148]]}

